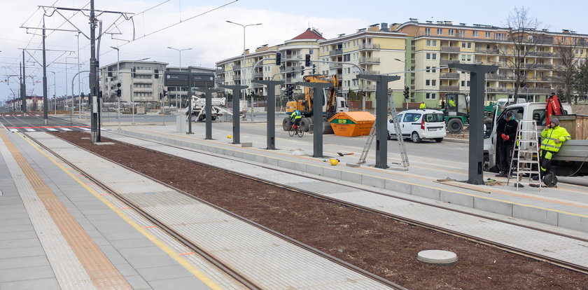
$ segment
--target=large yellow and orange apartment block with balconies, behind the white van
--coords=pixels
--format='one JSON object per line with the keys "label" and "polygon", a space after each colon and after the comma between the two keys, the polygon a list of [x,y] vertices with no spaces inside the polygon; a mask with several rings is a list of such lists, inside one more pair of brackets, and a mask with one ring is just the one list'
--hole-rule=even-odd
{"label": "large yellow and orange apartment block with balconies, behind the white van", "polygon": [[[524,38],[528,43],[524,57],[514,69],[514,58],[521,55],[514,50],[509,40],[509,30],[491,25],[454,25],[443,21],[420,23],[417,20],[405,22],[396,27],[398,32],[407,34],[407,58],[414,76],[411,92],[413,102],[438,103],[441,95],[470,92],[470,76],[463,71],[447,69],[451,62],[466,64],[497,65],[498,71],[486,74],[486,101],[512,97],[517,75],[523,81],[519,95],[542,101],[561,86],[563,64],[558,46],[574,43],[573,57],[586,57],[588,35],[542,31],[513,32],[514,37]],[[535,38],[533,40],[533,37]],[[566,39],[567,38],[567,39]],[[575,39],[575,40],[574,40]]]}

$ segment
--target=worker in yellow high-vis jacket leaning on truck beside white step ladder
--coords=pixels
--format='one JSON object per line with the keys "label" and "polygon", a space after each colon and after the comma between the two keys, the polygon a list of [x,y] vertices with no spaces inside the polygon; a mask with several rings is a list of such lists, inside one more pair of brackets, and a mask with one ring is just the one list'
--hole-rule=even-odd
{"label": "worker in yellow high-vis jacket leaning on truck beside white step ladder", "polygon": [[559,125],[559,119],[552,117],[549,125],[541,132],[541,179],[547,174],[551,167],[551,160],[555,153],[559,152],[561,144],[572,139],[566,128]]}

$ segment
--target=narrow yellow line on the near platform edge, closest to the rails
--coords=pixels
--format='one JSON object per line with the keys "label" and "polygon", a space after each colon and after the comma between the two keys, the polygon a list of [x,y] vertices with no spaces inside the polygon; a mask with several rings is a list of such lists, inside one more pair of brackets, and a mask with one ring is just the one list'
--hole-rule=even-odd
{"label": "narrow yellow line on the near platform edge, closest to the rails", "polygon": [[[22,137],[22,135],[21,135],[21,137]],[[33,144],[31,141],[29,141],[29,139],[27,139],[25,137],[22,137],[22,139],[25,139],[25,141],[27,141],[37,151],[41,152],[41,154],[43,154],[43,156],[45,156],[46,158],[48,158],[49,160],[51,160],[51,162],[53,164],[57,165],[57,167],[59,167],[59,169],[61,169],[63,172],[65,172],[66,174],[68,174],[69,177],[71,177],[72,179],[74,179],[75,181],[77,181],[78,184],[80,184],[81,186],[83,186],[83,188],[85,188],[85,190],[87,190],[90,193],[92,193],[92,195],[94,195],[94,197],[96,197],[97,199],[99,199],[100,201],[102,201],[104,203],[104,205],[108,206],[113,212],[115,212],[116,214],[118,214],[118,216],[120,216],[120,218],[122,218],[127,223],[129,223],[130,226],[132,226],[135,230],[139,231],[139,233],[143,234],[145,237],[147,237],[149,240],[151,240],[151,242],[153,242],[153,244],[155,244],[160,249],[162,249],[163,251],[165,251],[166,254],[168,254],[176,262],[178,262],[180,265],[182,265],[183,268],[186,268],[186,270],[188,270],[190,273],[192,273],[192,275],[194,275],[195,277],[197,277],[198,279],[200,279],[200,281],[202,281],[204,284],[207,284],[207,286],[209,286],[211,289],[214,289],[214,290],[221,290],[221,289],[223,289],[221,286],[218,286],[212,279],[210,279],[209,277],[207,277],[207,275],[204,275],[204,273],[200,272],[200,270],[198,270],[189,261],[187,261],[185,258],[183,258],[182,256],[180,256],[180,253],[177,253],[176,251],[174,251],[174,249],[168,247],[167,244],[165,244],[164,242],[162,242],[161,240],[159,240],[158,237],[155,237],[154,235],[152,235],[151,233],[149,233],[146,229],[144,229],[141,226],[139,226],[139,224],[137,224],[136,222],[134,222],[129,216],[127,216],[120,209],[118,209],[117,207],[115,207],[114,205],[112,205],[111,202],[109,202],[108,200],[106,200],[105,198],[103,198],[102,195],[100,195],[100,193],[97,193],[97,191],[94,191],[94,189],[92,189],[89,186],[87,186],[83,181],[81,181],[80,179],[78,179],[78,177],[76,177],[69,170],[67,170],[65,167],[63,167],[61,164],[59,164],[55,159],[51,158],[47,153],[45,153],[40,148],[38,148],[38,146],[36,146],[35,144]]]}

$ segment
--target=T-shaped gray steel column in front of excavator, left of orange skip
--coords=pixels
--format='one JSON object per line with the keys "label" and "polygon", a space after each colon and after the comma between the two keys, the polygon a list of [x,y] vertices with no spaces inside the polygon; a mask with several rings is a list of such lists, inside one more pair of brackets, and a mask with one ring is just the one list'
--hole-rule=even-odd
{"label": "T-shaped gray steel column in front of excavator, left of orange skip", "polygon": [[314,126],[312,137],[312,157],[322,158],[323,156],[323,105],[325,91],[323,88],[332,87],[332,83],[308,83],[299,81],[297,85],[312,88],[312,123]]}

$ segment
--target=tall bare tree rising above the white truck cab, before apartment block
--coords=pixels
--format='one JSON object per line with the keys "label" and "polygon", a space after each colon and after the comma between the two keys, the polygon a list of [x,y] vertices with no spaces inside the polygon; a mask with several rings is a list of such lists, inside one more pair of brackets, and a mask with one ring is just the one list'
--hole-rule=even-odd
{"label": "tall bare tree rising above the white truck cab, before apartment block", "polygon": [[539,43],[545,42],[545,32],[540,31],[542,23],[529,15],[528,9],[514,8],[510,12],[505,27],[507,38],[503,43],[498,43],[500,63],[508,67],[514,73],[514,99],[519,97],[521,84],[526,83],[527,71],[533,69],[536,64],[528,63],[528,57],[537,49]]}

